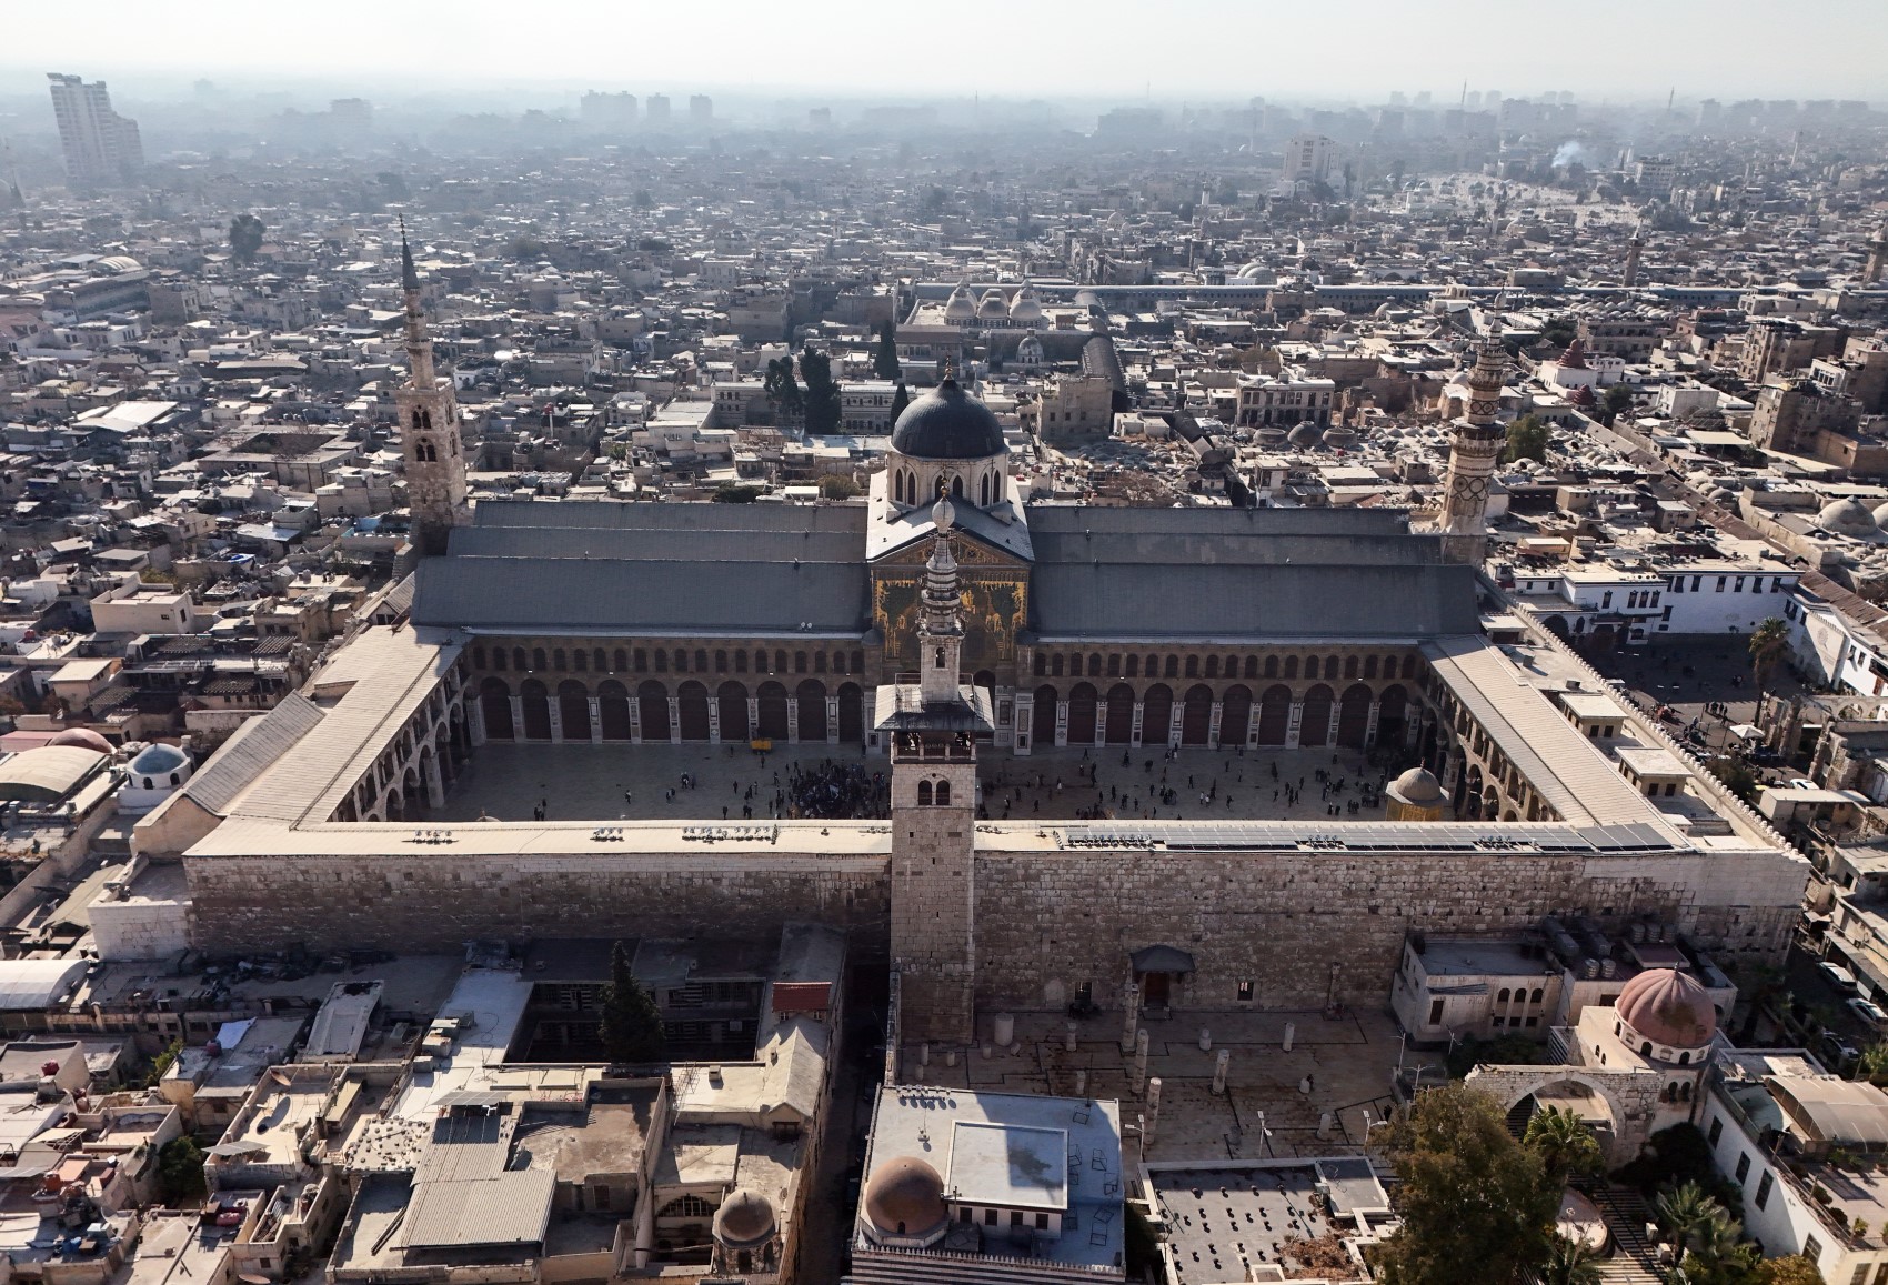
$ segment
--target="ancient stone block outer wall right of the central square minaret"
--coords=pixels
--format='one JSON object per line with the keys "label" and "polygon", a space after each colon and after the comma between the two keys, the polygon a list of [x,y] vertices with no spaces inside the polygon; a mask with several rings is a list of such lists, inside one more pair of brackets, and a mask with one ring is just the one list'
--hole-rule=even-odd
{"label": "ancient stone block outer wall right of the central square minaret", "polygon": [[[1805,864],[1773,857],[1346,857],[1344,853],[984,853],[976,862],[978,1010],[1059,1008],[1084,983],[1116,1004],[1129,951],[1176,945],[1197,972],[1176,1006],[1382,1004],[1408,928],[1512,934],[1586,911],[1673,921],[1722,955],[1780,959]],[[1699,908],[1699,900],[1728,906]]]}

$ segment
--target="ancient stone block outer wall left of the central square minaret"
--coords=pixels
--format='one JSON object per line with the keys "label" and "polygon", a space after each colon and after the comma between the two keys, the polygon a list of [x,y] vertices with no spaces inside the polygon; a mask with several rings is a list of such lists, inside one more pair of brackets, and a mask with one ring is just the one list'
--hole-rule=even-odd
{"label": "ancient stone block outer wall left of the central square minaret", "polygon": [[193,942],[208,951],[381,947],[455,953],[474,940],[748,938],[789,921],[882,951],[882,857],[196,857]]}

